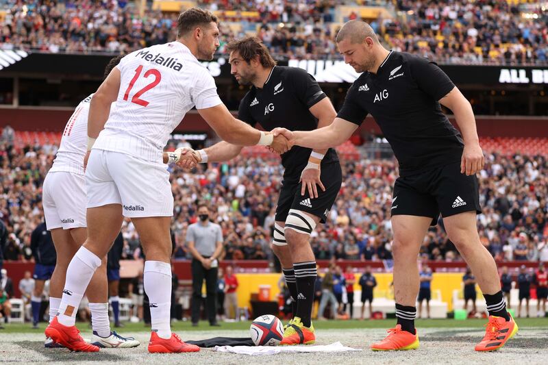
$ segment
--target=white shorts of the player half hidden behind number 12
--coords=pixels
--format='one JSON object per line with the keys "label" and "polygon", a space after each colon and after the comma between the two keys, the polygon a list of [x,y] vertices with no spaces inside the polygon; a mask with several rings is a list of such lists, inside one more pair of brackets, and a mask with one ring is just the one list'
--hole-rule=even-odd
{"label": "white shorts of the player half hidden behind number 12", "polygon": [[87,227],[86,178],[64,171],[47,173],[42,185],[42,205],[49,230]]}

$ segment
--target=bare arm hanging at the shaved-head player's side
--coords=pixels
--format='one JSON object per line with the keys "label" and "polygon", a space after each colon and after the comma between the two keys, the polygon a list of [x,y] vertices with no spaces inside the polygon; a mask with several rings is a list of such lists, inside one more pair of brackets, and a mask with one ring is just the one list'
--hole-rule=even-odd
{"label": "bare arm hanging at the shaved-head player's side", "polygon": [[479,146],[477,129],[475,127],[472,105],[464,95],[454,87],[449,94],[440,99],[440,104],[449,108],[455,115],[458,126],[464,139],[464,151],[460,161],[460,173],[474,175],[484,168],[485,158],[482,147]]}

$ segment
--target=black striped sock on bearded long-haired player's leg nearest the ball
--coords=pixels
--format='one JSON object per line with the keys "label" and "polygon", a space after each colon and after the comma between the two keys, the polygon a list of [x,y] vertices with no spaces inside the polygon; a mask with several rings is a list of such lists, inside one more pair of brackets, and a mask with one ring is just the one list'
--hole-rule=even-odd
{"label": "black striped sock on bearded long-haired player's leg nearest the ball", "polygon": [[316,283],[316,262],[297,262],[293,264],[297,281],[297,312],[295,316],[301,318],[305,327],[312,322],[312,305],[314,305],[314,284]]}

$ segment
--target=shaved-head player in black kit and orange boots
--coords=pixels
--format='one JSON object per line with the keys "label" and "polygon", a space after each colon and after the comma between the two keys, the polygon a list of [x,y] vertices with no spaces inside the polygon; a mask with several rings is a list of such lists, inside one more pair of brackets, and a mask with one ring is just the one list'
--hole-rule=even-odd
{"label": "shaved-head player in black kit and orange boots", "polygon": [[[336,42],[345,62],[362,72],[337,118],[315,131],[274,132],[298,146],[335,147],[370,113],[392,146],[400,173],[391,209],[397,325],[371,348],[419,347],[414,327],[419,292],[416,257],[429,225],[436,225],[441,213],[449,239],[477,277],[490,314],[486,336],[475,350],[499,349],[514,336],[517,325],[506,311],[495,260],[477,234],[476,214],[481,207],[475,173],[483,168],[484,155],[469,101],[434,62],[382,47],[367,23],[349,21]],[[462,134],[440,104],[453,112]]]}

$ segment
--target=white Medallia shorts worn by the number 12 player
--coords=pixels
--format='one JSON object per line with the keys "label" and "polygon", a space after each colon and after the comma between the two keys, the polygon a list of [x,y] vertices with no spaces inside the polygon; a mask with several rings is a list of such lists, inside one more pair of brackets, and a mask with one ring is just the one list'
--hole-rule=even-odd
{"label": "white Medallia shorts worn by the number 12 player", "polygon": [[123,216],[173,216],[169,172],[159,162],[92,149],[86,167],[87,207],[122,205]]}

